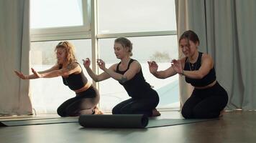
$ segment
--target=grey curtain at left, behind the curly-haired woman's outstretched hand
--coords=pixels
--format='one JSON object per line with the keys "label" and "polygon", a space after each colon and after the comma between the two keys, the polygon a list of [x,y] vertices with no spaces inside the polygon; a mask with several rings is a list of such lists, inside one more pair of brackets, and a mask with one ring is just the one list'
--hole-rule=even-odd
{"label": "grey curtain at left, behind the curly-haired woman's outstretched hand", "polygon": [[0,115],[32,114],[29,81],[29,0],[0,0]]}

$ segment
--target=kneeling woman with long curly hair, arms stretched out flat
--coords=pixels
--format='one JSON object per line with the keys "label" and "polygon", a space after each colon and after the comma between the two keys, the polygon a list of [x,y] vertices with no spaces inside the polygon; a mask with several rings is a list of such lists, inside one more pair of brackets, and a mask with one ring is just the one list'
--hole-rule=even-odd
{"label": "kneeling woman with long curly hair, arms stretched out flat", "polygon": [[68,41],[61,41],[56,47],[57,64],[45,71],[35,71],[31,75],[24,75],[15,71],[21,79],[37,78],[63,78],[63,84],[76,92],[76,97],[68,99],[58,107],[57,112],[61,117],[73,117],[81,114],[102,114],[96,105],[99,103],[99,92],[86,79],[83,69],[76,62],[74,47]]}

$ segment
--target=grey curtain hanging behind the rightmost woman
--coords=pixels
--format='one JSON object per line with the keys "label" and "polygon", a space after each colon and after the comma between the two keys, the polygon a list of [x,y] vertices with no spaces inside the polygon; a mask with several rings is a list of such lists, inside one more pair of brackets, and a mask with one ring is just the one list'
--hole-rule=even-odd
{"label": "grey curtain hanging behind the rightmost woman", "polygon": [[[195,31],[199,51],[213,56],[217,80],[229,94],[227,109],[255,110],[256,1],[175,0],[175,5],[178,36]],[[181,104],[190,94],[180,78]]]}

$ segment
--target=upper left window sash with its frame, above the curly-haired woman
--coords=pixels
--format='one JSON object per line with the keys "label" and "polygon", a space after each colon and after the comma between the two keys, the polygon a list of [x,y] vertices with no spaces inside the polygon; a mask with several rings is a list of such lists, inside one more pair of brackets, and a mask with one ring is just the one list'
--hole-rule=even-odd
{"label": "upper left window sash with its frame, above the curly-haired woman", "polygon": [[87,0],[32,0],[32,41],[88,38]]}

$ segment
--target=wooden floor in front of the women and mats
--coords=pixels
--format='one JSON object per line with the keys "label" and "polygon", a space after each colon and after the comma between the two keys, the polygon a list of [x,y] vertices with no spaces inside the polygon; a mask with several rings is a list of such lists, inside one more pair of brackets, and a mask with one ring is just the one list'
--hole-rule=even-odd
{"label": "wooden floor in front of the women and mats", "polygon": [[[159,118],[179,119],[179,112]],[[224,112],[219,120],[150,129],[85,129],[78,123],[0,127],[0,143],[256,142],[256,112]]]}

